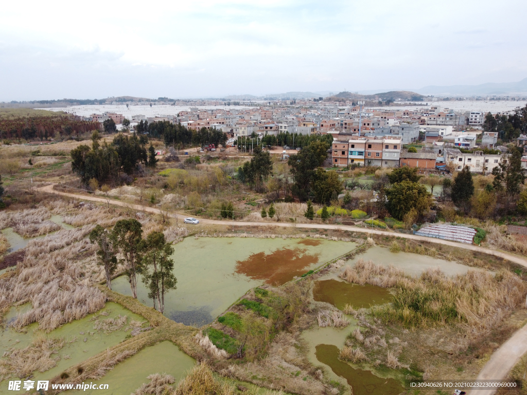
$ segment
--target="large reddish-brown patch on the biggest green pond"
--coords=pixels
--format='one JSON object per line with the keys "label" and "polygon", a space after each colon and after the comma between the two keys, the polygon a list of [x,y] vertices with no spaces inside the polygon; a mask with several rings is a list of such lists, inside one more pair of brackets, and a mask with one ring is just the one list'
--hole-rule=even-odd
{"label": "large reddish-brown patch on the biggest green pond", "polygon": [[306,272],[306,268],[318,262],[319,254],[306,254],[305,249],[281,248],[266,254],[251,254],[245,261],[236,261],[236,273],[253,280],[265,280],[268,284],[282,285]]}

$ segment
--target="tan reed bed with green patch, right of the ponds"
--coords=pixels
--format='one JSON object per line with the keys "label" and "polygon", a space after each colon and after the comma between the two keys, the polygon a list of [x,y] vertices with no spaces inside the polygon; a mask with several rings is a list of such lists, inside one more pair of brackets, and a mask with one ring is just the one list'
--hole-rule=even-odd
{"label": "tan reed bed with green patch, right of the ponds", "polygon": [[394,289],[391,304],[372,308],[387,321],[426,326],[438,322],[464,324],[467,330],[489,331],[508,317],[525,299],[527,286],[508,270],[496,273],[469,271],[454,277],[429,268],[419,277],[405,275],[359,259],[340,277],[357,284]]}

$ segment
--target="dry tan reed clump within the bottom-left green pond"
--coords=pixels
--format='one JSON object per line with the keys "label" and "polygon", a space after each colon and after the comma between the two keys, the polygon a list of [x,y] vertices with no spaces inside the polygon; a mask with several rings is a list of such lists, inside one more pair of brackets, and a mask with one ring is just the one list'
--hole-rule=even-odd
{"label": "dry tan reed clump within the bottom-left green pond", "polygon": [[45,372],[56,366],[60,357],[53,357],[66,344],[64,338],[37,336],[23,349],[11,348],[0,359],[0,381],[9,377],[25,378],[34,371]]}

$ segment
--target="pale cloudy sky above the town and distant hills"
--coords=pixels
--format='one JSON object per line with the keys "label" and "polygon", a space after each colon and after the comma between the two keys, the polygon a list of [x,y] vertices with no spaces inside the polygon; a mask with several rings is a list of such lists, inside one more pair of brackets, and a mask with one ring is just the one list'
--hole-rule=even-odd
{"label": "pale cloudy sky above the town and distant hills", "polygon": [[2,4],[0,101],[412,89],[527,77],[525,0]]}

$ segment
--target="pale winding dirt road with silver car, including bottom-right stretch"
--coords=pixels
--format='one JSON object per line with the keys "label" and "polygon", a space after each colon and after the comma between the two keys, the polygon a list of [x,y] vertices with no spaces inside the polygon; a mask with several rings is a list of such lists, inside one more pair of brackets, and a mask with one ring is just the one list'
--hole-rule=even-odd
{"label": "pale winding dirt road with silver car, including bottom-right stretch", "polygon": [[[160,214],[159,209],[153,207],[142,206],[139,204],[129,204],[116,200],[106,200],[102,197],[90,196],[90,195],[81,195],[75,193],[66,193],[60,192],[53,189],[55,184],[46,185],[40,188],[37,188],[40,192],[54,193],[56,195],[73,197],[75,199],[88,200],[92,202],[101,202],[101,203],[110,203],[117,206],[128,207],[138,211],[145,211],[154,214]],[[181,214],[169,214],[171,218],[184,219],[186,216]],[[436,244],[451,245],[457,248],[463,248],[465,250],[483,252],[486,254],[498,256],[509,260],[511,262],[517,263],[519,265],[527,268],[527,259],[508,254],[506,252],[495,251],[488,248],[483,248],[477,245],[458,243],[450,240],[442,240],[435,238],[427,238],[424,236],[417,236],[415,234],[406,234],[406,233],[394,233],[388,231],[382,231],[378,229],[366,229],[366,228],[357,228],[356,226],[349,225],[331,225],[331,224],[294,224],[290,222],[236,222],[236,221],[218,221],[218,220],[208,220],[200,219],[201,223],[205,224],[216,224],[216,225],[227,225],[227,226],[280,226],[282,228],[302,228],[302,229],[335,229],[335,230],[346,230],[352,232],[363,232],[363,233],[374,233],[379,235],[386,236],[398,236],[404,239],[416,240],[416,241],[427,241]],[[479,380],[502,380],[505,379],[507,374],[515,366],[519,358],[527,352],[527,325],[518,331],[516,331],[512,337],[503,343],[501,347],[492,354],[491,359],[485,364],[483,369],[480,371],[477,379]],[[492,395],[495,390],[477,390],[471,391],[473,395]]]}

